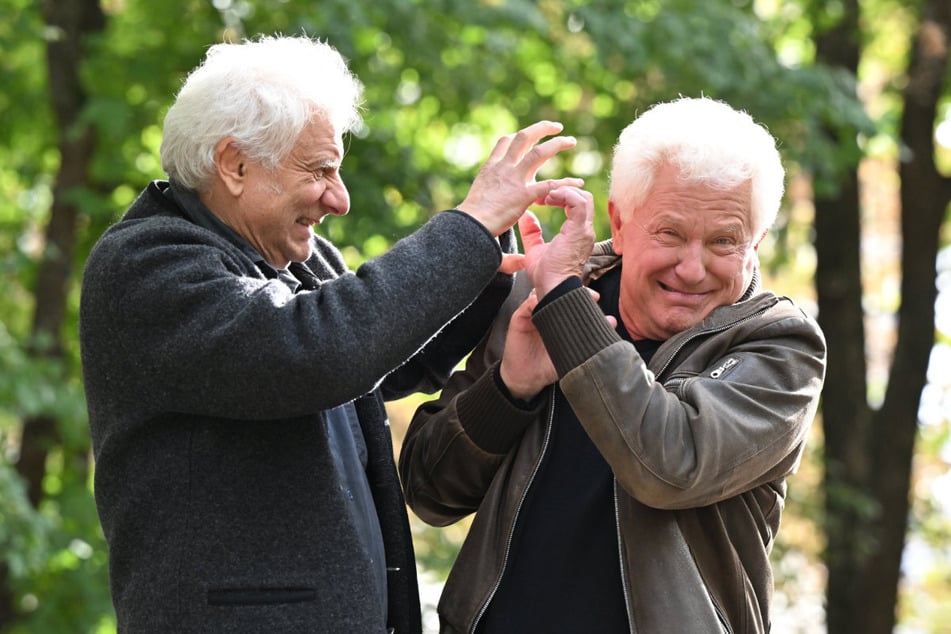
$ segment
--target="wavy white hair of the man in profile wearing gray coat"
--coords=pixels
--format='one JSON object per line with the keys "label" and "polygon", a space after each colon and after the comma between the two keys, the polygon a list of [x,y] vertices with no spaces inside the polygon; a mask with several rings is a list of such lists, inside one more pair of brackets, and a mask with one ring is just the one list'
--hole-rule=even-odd
{"label": "wavy white hair of the man in profile wearing gray coat", "polygon": [[204,191],[215,147],[227,137],[250,160],[275,167],[315,116],[326,117],[338,135],[358,125],[362,93],[346,61],[325,42],[265,35],[215,44],[165,116],[162,167],[185,187]]}

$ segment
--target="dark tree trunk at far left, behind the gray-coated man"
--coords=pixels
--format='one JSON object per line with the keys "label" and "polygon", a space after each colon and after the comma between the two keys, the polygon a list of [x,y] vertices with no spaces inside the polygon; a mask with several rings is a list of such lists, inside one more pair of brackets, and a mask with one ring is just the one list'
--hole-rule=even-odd
{"label": "dark tree trunk at far left, behind the gray-coated man", "polygon": [[[81,85],[83,40],[105,27],[98,0],[45,0],[43,16],[51,27],[47,43],[49,94],[59,128],[60,171],[53,186],[53,204],[46,228],[45,249],[34,289],[35,313],[30,352],[54,360],[63,357],[62,328],[72,273],[79,208],[71,194],[88,181],[95,137],[81,120],[86,94]],[[36,416],[23,421],[20,458],[16,468],[26,481],[34,506],[43,496],[43,478],[50,450],[59,444],[57,421]],[[0,628],[16,619],[9,571],[0,566]]]}

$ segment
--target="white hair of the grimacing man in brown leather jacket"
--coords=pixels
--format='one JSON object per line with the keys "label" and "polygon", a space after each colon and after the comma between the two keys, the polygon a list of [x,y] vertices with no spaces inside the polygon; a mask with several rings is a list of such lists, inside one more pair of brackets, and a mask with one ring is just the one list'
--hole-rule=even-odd
{"label": "white hair of the grimacing man in brown leather jacket", "polygon": [[785,172],[776,140],[750,115],[707,97],[655,104],[618,138],[611,167],[611,200],[630,219],[650,194],[657,170],[677,167],[684,183],[732,189],[749,182],[756,239],[772,226]]}

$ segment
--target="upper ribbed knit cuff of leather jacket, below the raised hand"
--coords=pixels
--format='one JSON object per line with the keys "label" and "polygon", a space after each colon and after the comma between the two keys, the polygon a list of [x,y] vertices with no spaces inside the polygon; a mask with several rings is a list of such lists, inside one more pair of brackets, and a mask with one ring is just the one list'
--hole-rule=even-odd
{"label": "upper ribbed knit cuff of leather jacket, below the raised hand", "polygon": [[569,291],[536,309],[532,322],[542,335],[559,377],[621,341],[587,288]]}

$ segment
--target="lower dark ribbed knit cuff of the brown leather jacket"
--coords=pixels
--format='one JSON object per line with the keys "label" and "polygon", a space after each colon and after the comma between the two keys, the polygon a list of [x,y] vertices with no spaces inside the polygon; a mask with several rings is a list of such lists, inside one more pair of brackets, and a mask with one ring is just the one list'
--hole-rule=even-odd
{"label": "lower dark ribbed knit cuff of the brown leather jacket", "polygon": [[493,376],[496,368],[497,365],[490,368],[459,394],[456,414],[475,444],[488,453],[504,454],[535,420],[541,405],[533,409],[516,407],[499,391]]}

